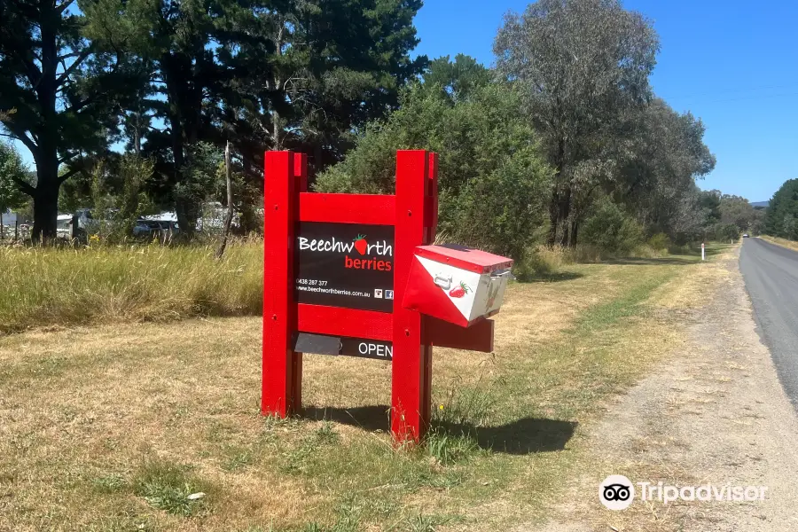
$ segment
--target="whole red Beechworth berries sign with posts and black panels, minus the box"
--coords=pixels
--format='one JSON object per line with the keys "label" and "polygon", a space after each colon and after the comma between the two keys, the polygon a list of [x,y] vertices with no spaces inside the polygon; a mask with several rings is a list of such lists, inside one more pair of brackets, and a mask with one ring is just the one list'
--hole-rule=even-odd
{"label": "whole red Beechworth berries sign with posts and black panels, minus the box", "polygon": [[430,421],[432,346],[493,350],[493,322],[464,328],[403,306],[415,250],[432,244],[436,153],[396,155],[395,195],[307,192],[307,159],[268,152],[264,182],[262,413],[301,409],[302,353],[390,360],[391,431]]}

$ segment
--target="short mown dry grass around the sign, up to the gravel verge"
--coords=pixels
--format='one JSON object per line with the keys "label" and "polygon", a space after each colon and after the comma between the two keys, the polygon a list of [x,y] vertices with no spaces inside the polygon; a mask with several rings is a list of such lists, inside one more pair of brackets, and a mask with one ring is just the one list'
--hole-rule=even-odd
{"label": "short mown dry grass around the sign, up to the gravel verge", "polygon": [[[541,519],[579,463],[582,426],[677,340],[652,293],[699,271],[692,259],[638,260],[511,286],[494,356],[435,350],[439,416],[462,415],[469,431],[444,434],[450,462],[391,447],[390,368],[378,361],[306,356],[305,417],[262,419],[259,318],[0,338],[0,530],[495,530]],[[187,505],[194,490],[207,496]]]}

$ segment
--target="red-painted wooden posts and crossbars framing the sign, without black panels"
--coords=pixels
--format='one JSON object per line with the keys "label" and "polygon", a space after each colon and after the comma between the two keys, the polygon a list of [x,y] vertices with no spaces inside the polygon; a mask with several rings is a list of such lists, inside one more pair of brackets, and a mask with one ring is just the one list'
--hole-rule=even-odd
{"label": "red-painted wooden posts and crossbars framing the sign, without black panels", "polygon": [[[395,195],[307,192],[301,153],[267,152],[263,222],[262,413],[285,418],[301,409],[302,354],[297,332],[393,343],[391,432],[419,440],[430,421],[432,346],[493,350],[493,322],[467,329],[403,309],[416,246],[432,244],[438,223],[437,153],[396,153]],[[393,313],[298,303],[294,298],[297,222],[391,225],[395,231]]]}

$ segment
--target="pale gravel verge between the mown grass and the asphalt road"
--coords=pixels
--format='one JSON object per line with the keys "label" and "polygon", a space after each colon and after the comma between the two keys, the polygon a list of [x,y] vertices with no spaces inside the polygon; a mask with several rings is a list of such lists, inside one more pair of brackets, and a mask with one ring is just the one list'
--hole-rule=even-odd
{"label": "pale gravel verge between the mown grass and the asphalt road", "polygon": [[[717,262],[711,302],[683,317],[685,345],[591,430],[583,469],[591,473],[574,481],[545,530],[798,529],[798,422],[756,332],[738,260],[739,249]],[[763,502],[669,505],[640,501],[638,489],[629,509],[611,512],[599,503],[609,474],[768,489]]]}

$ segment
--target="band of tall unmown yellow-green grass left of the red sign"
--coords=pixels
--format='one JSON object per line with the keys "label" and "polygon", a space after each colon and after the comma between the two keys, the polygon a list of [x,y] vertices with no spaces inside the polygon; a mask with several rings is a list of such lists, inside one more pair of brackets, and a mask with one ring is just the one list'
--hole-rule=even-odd
{"label": "band of tall unmown yellow-green grass left of the red sign", "polygon": [[0,333],[262,311],[262,245],[0,247]]}

